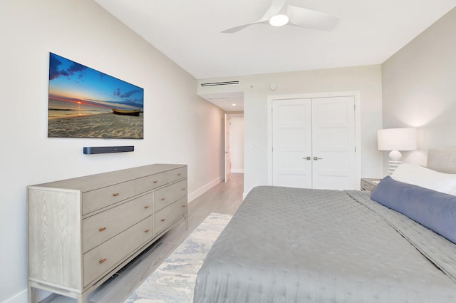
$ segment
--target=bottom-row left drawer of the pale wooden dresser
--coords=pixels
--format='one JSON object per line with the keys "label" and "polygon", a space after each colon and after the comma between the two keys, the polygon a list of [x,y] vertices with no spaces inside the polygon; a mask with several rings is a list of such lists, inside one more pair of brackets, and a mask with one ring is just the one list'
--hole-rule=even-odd
{"label": "bottom-row left drawer of the pale wooden dresser", "polygon": [[103,276],[152,239],[152,216],[83,255],[84,286]]}

